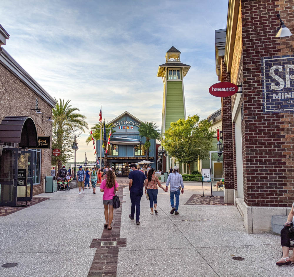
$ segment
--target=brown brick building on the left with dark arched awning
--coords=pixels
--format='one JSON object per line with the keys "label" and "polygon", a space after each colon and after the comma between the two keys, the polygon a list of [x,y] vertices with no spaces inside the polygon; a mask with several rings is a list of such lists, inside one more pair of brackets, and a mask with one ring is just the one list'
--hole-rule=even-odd
{"label": "brown brick building on the left with dark arched awning", "polygon": [[[0,200],[15,206],[26,197],[25,183],[27,200],[44,192],[44,177],[51,170],[55,100],[1,47],[6,39],[9,34],[0,25]],[[40,136],[47,136],[43,146]],[[20,172],[26,182],[19,180]]]}

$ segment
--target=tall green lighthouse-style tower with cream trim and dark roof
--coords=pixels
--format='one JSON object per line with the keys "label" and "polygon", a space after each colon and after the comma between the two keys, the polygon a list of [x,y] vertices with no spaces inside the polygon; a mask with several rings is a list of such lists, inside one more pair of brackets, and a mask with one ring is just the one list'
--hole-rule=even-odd
{"label": "tall green lighthouse-style tower with cream trim and dark roof", "polygon": [[[163,80],[162,135],[171,127],[171,122],[186,119],[183,79],[191,66],[181,63],[180,56],[181,52],[172,46],[166,52],[166,63],[158,67],[157,77]],[[167,170],[170,165],[170,158],[167,158]]]}

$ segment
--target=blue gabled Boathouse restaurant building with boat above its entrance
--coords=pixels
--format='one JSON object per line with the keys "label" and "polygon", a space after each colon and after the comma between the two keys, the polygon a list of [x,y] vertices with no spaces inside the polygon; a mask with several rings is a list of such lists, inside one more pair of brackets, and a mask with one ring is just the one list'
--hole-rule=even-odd
{"label": "blue gabled Boathouse restaurant building with boat above its entrance", "polygon": [[[138,128],[142,121],[125,111],[109,122],[113,124],[113,135],[110,139],[110,152],[107,156],[107,165],[115,170],[117,176],[128,176],[129,164],[146,160],[144,144],[145,137],[140,136]],[[150,140],[149,161],[151,167],[156,168],[156,141]],[[96,149],[100,157],[100,141],[96,142]],[[104,150],[102,150],[102,166]],[[98,158],[100,161],[100,158]]]}

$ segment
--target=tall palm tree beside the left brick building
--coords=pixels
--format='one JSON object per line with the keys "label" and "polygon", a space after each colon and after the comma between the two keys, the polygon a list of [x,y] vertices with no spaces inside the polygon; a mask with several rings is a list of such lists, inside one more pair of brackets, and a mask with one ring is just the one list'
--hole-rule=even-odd
{"label": "tall palm tree beside the left brick building", "polygon": [[[88,124],[84,120],[86,116],[79,114],[79,109],[69,104],[71,100],[64,102],[64,99],[60,98],[59,101],[56,99],[55,101],[56,105],[52,110],[52,118],[54,120],[53,127],[56,129],[56,145],[58,146],[57,148],[60,147],[61,153],[66,153],[70,149],[63,149],[64,129],[74,126],[76,129],[85,132],[85,128],[88,129]],[[62,158],[60,156],[57,158],[58,170],[62,165]]]}

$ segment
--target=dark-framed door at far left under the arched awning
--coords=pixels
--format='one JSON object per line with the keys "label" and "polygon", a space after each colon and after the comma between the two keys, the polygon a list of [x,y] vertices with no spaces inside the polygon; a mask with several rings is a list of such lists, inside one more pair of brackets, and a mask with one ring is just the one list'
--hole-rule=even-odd
{"label": "dark-framed door at far left under the arched awning", "polygon": [[18,148],[3,148],[0,156],[1,206],[16,206]]}

